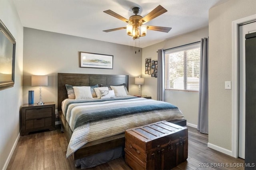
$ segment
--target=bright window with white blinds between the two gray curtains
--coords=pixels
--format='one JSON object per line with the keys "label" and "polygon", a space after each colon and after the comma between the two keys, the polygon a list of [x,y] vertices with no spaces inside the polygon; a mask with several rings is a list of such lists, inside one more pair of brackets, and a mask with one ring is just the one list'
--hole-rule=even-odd
{"label": "bright window with white blinds between the two gray curtains", "polygon": [[200,42],[164,52],[165,89],[199,90]]}

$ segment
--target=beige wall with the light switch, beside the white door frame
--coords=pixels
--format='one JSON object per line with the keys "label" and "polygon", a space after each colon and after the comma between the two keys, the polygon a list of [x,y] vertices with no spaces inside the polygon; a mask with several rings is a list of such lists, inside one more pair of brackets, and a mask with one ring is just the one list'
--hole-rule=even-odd
{"label": "beige wall with the light switch, beside the white door frame", "polygon": [[232,21],[256,14],[255,0],[230,0],[209,10],[209,144],[232,150]]}

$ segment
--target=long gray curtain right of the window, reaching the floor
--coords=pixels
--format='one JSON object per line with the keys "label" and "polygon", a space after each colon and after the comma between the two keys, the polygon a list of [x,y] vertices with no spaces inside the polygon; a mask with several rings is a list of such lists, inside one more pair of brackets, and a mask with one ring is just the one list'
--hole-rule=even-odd
{"label": "long gray curtain right of the window, reaching the floor", "polygon": [[201,39],[197,129],[208,134],[208,38]]}

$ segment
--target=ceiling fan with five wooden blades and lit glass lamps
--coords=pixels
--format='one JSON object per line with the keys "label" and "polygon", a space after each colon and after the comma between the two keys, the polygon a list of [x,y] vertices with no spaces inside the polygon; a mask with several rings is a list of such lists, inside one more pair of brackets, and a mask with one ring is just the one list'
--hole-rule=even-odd
{"label": "ceiling fan with five wooden blades and lit glass lamps", "polygon": [[126,27],[107,29],[107,30],[104,30],[104,32],[126,29],[127,35],[132,36],[132,39],[138,39],[139,37],[146,36],[147,29],[154,30],[154,31],[161,31],[161,32],[165,32],[165,33],[168,33],[172,29],[171,27],[158,27],[158,26],[143,25],[144,23],[167,12],[167,10],[164,7],[162,7],[161,5],[157,6],[154,10],[152,10],[150,13],[148,13],[144,17],[137,15],[140,11],[139,7],[132,8],[132,11],[135,15],[130,16],[129,20],[120,16],[119,14],[116,14],[112,10],[103,11],[106,14],[109,14],[113,17],[118,18],[119,20],[122,20],[122,21],[128,23],[128,25],[126,25]]}

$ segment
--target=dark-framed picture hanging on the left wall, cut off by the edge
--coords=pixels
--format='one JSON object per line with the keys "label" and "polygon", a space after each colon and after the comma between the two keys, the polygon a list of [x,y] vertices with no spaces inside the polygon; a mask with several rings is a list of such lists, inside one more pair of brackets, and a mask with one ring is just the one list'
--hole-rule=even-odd
{"label": "dark-framed picture hanging on the left wall, cut off by the edge", "polygon": [[0,20],[0,90],[14,86],[16,41]]}

